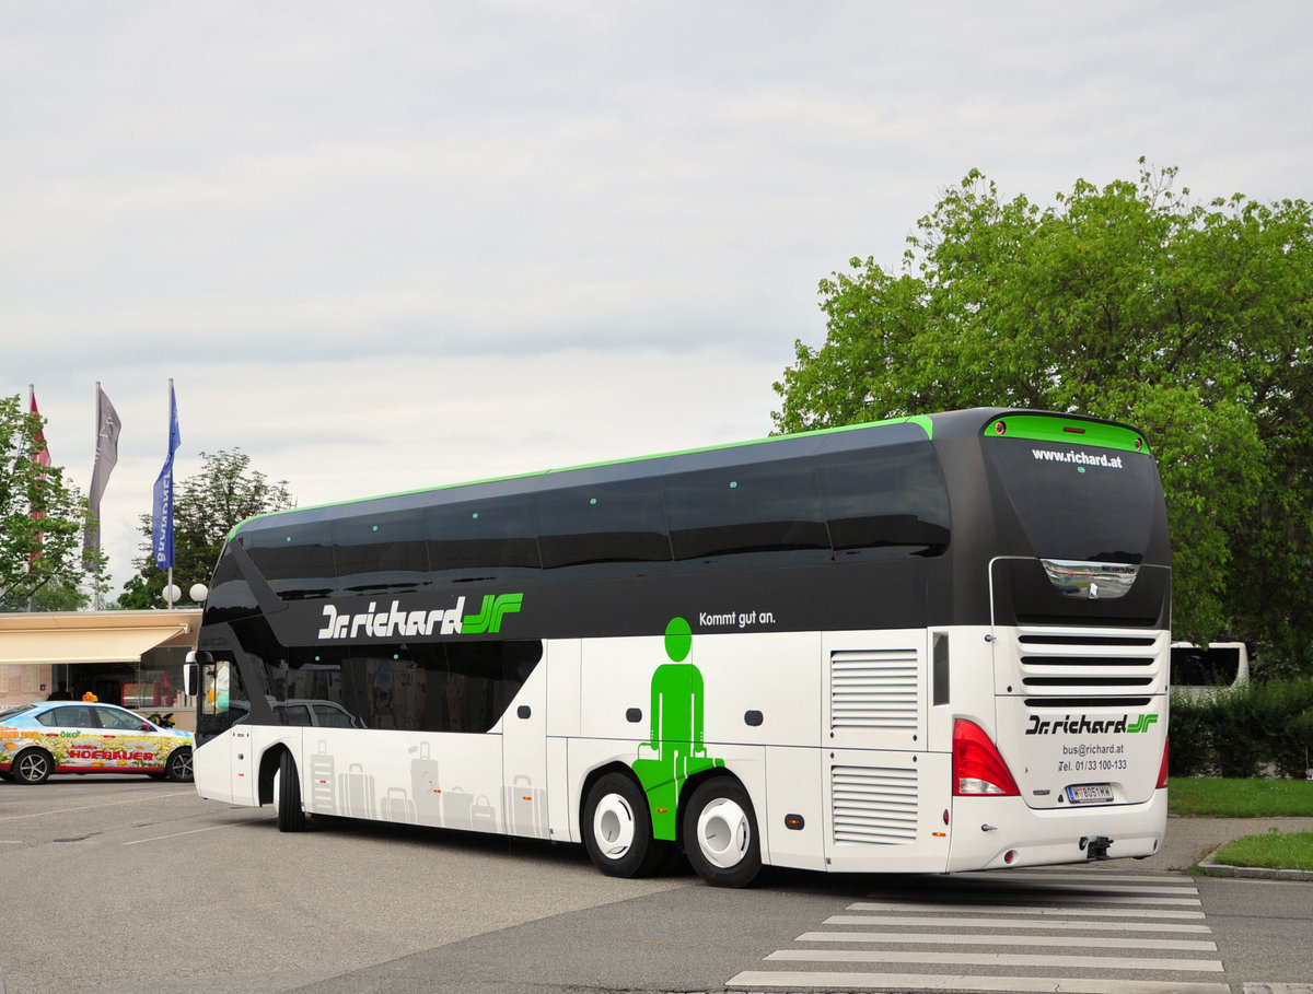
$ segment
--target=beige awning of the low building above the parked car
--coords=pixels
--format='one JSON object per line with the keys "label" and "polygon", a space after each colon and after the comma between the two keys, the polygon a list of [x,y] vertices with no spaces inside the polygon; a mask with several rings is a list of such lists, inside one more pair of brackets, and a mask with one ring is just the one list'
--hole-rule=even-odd
{"label": "beige awning of the low building above the parked car", "polygon": [[0,614],[0,665],[139,662],[156,646],[196,648],[200,608]]}

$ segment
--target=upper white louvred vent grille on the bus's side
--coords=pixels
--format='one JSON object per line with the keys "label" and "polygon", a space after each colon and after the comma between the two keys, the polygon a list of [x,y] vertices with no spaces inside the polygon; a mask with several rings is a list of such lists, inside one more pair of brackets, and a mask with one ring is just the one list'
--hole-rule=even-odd
{"label": "upper white louvred vent grille on the bus's side", "polygon": [[915,649],[830,653],[830,728],[916,729]]}

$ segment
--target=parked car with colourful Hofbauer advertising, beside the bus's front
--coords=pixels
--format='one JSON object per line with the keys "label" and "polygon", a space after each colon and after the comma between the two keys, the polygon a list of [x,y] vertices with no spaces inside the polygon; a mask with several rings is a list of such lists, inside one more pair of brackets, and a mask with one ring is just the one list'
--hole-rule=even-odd
{"label": "parked car with colourful Hofbauer advertising, beside the bus's front", "polygon": [[0,776],[147,774],[192,779],[192,733],[161,728],[117,704],[47,700],[0,711]]}

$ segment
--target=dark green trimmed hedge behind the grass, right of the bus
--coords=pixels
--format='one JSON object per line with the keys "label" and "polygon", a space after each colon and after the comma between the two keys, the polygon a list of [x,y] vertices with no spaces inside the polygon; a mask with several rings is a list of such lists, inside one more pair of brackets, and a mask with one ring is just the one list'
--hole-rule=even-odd
{"label": "dark green trimmed hedge behind the grass, right of the bus", "polygon": [[1313,682],[1250,683],[1171,696],[1171,771],[1304,778],[1313,754]]}

